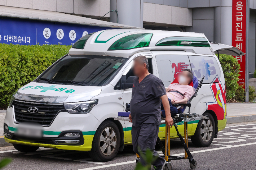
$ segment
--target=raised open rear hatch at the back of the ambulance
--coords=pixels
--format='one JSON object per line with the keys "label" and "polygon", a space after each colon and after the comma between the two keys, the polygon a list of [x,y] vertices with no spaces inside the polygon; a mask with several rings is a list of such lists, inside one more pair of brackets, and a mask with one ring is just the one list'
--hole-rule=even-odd
{"label": "raised open rear hatch at the back of the ambulance", "polygon": [[245,54],[243,51],[240,51],[236,47],[232,47],[229,45],[220,44],[212,41],[210,41],[210,43],[215,54],[218,54],[218,52],[219,54],[227,54],[227,55],[233,55],[233,56],[241,56]]}

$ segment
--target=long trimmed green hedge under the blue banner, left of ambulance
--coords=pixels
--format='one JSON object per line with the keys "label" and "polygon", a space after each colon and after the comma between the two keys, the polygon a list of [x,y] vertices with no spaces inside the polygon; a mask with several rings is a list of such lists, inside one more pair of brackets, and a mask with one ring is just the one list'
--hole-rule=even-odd
{"label": "long trimmed green hedge under the blue banner, left of ambulance", "polygon": [[8,106],[17,89],[33,81],[70,48],[65,45],[0,44],[0,107]]}

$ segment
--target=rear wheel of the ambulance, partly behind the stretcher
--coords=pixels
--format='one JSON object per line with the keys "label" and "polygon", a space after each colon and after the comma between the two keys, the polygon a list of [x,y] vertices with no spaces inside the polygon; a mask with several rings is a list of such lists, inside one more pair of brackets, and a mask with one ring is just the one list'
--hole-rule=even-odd
{"label": "rear wheel of the ambulance, partly behind the stretcher", "polygon": [[191,136],[191,142],[198,147],[210,146],[215,135],[215,121],[213,116],[208,112],[204,116],[207,116],[209,120],[199,120],[195,134]]}

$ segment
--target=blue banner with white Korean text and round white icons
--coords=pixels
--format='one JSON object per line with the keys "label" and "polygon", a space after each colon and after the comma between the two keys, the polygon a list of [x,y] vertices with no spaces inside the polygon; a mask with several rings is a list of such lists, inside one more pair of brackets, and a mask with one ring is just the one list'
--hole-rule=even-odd
{"label": "blue banner with white Korean text and round white icons", "polygon": [[73,45],[88,33],[113,29],[30,19],[0,18],[0,43]]}

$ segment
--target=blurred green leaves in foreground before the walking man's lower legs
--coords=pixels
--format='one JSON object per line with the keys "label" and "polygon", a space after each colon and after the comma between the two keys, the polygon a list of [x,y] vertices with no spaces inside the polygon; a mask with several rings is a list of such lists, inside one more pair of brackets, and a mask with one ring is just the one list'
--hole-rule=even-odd
{"label": "blurred green leaves in foreground before the walking man's lower legs", "polygon": [[151,164],[157,159],[149,149],[146,150],[145,154],[140,152],[140,157],[146,161],[146,166],[143,166],[141,162],[138,162],[135,170],[149,170],[151,169]]}

